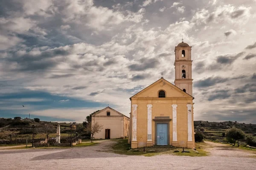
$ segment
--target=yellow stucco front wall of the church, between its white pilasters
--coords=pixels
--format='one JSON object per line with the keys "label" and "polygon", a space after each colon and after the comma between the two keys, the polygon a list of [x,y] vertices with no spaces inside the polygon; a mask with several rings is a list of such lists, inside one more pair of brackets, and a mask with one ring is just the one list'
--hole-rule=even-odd
{"label": "yellow stucco front wall of the church, between its white pilasters", "polygon": [[[163,90],[166,92],[166,98],[158,98],[158,92]],[[192,104],[192,96],[184,93],[179,88],[175,87],[165,79],[160,79],[148,88],[144,89],[142,93],[131,97],[131,105],[137,105],[137,144],[131,142],[131,147],[147,146],[147,126],[148,126],[148,108],[147,105],[152,105],[152,119],[155,116],[169,116],[172,119],[172,105],[177,104],[177,146],[178,147],[195,147],[194,139],[194,124],[192,116],[192,145],[187,145],[188,141],[188,108],[187,104]],[[132,110],[132,109],[131,109]],[[132,110],[133,111],[133,110]],[[131,113],[132,114],[132,113]],[[193,115],[193,109],[192,109]],[[132,116],[131,116],[132,118]],[[152,144],[155,143],[155,122],[152,124]],[[132,119],[131,119],[131,128]],[[169,144],[172,145],[173,122],[169,122]],[[132,136],[132,134],[131,134]],[[136,146],[137,145],[137,146]]]}

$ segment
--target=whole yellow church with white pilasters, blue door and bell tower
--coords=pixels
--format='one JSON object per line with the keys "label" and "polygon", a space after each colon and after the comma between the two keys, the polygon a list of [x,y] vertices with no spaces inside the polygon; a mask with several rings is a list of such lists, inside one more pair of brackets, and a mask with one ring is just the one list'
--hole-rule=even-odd
{"label": "whole yellow church with white pilasters, blue door and bell tower", "polygon": [[175,47],[175,85],[162,76],[130,98],[131,148],[195,147],[191,48],[183,40]]}

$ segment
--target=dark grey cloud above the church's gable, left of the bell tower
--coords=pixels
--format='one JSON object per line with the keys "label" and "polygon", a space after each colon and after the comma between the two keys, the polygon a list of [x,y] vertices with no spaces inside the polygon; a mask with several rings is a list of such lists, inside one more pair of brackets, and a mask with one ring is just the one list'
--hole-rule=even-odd
{"label": "dark grey cloud above the church's gable, left of the bell tower", "polygon": [[148,68],[155,68],[159,64],[159,61],[157,59],[140,59],[139,60],[140,64],[132,64],[129,65],[128,68],[130,71],[144,71],[147,70]]}

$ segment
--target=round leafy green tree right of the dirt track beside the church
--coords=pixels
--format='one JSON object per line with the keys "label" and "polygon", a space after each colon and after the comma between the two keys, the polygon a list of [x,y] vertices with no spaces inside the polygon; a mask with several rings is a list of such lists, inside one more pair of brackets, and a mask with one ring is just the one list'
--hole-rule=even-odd
{"label": "round leafy green tree right of the dirt track beside the church", "polygon": [[238,141],[238,147],[239,147],[239,140],[244,139],[245,133],[241,129],[236,128],[233,126],[231,129],[228,129],[226,132],[227,140],[233,140],[234,145],[236,144],[236,141]]}

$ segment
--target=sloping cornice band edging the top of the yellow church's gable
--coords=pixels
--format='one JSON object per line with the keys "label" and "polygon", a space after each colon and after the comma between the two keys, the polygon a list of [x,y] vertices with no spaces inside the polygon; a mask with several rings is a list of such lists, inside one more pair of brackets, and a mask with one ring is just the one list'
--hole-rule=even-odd
{"label": "sloping cornice band edging the top of the yellow church's gable", "polygon": [[[178,88],[177,86],[173,85],[172,83],[168,82],[166,79],[164,78],[161,78],[159,80],[157,80],[156,82],[154,82],[153,84],[149,85],[148,87],[144,88],[142,91],[138,92],[137,94],[134,94],[134,96],[131,96],[131,98],[134,98],[134,97],[138,97],[140,96],[141,94],[145,93],[146,91],[148,91],[149,89],[153,88],[154,86],[156,85],[159,85],[159,83],[161,82],[165,82],[167,85],[169,85],[170,87],[172,87],[173,89],[175,89],[175,91],[178,91],[179,93],[185,95],[185,97],[192,97],[194,99],[193,96],[187,94],[186,92],[184,92],[183,90],[181,90],[180,88]],[[131,100],[130,98],[130,100]]]}

